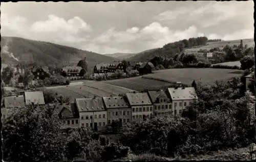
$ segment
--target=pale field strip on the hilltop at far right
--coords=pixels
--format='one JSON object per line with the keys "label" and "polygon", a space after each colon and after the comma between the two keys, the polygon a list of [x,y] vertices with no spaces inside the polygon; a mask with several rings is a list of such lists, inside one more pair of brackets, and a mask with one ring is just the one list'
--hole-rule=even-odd
{"label": "pale field strip on the hilltop at far right", "polygon": [[[231,41],[221,41],[221,42],[208,42],[206,46],[200,46],[200,47],[194,47],[194,48],[188,48],[185,49],[185,51],[198,51],[200,49],[207,49],[210,50],[214,47],[219,47],[222,49],[225,45],[233,46],[233,45],[239,45],[240,40],[231,40]],[[243,44],[247,44],[248,47],[254,46],[254,40],[253,39],[243,39]]]}

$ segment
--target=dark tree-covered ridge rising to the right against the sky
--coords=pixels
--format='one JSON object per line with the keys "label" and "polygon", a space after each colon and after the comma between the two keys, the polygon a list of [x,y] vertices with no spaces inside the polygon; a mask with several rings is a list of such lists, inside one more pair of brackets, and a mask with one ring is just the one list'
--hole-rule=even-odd
{"label": "dark tree-covered ridge rising to the right against the sky", "polygon": [[185,48],[191,48],[199,45],[207,44],[207,37],[198,37],[198,38],[189,38],[183,39],[177,42],[165,44],[161,48],[156,48],[152,50],[147,50],[142,53],[138,53],[138,55],[131,57],[128,59],[130,62],[134,61],[148,61],[153,59],[155,56],[162,56],[173,58],[177,52],[183,51]]}

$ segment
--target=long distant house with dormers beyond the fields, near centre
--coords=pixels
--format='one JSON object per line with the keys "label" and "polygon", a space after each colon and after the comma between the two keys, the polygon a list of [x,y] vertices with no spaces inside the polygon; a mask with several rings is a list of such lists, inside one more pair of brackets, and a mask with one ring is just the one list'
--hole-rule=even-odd
{"label": "long distant house with dormers beyond the fields, near centre", "polygon": [[93,68],[93,73],[96,75],[112,74],[112,73],[115,73],[117,70],[126,72],[124,64],[119,62],[119,63],[112,63],[112,64],[110,63],[96,64]]}

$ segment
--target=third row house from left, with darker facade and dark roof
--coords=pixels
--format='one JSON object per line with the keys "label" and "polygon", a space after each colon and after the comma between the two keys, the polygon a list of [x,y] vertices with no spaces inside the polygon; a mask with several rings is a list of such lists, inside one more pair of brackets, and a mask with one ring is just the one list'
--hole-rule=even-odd
{"label": "third row house from left, with darker facade and dark roof", "polygon": [[103,101],[108,113],[107,117],[109,125],[114,120],[119,120],[122,124],[129,123],[131,121],[131,107],[124,97],[103,97]]}

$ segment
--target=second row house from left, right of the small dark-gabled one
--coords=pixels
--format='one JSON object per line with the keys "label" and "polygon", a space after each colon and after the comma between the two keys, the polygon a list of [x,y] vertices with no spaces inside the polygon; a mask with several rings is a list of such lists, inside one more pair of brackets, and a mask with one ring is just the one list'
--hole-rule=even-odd
{"label": "second row house from left, right of the small dark-gabled one", "polygon": [[76,98],[80,123],[79,127],[92,128],[93,130],[102,130],[106,126],[106,109],[101,97],[94,98]]}

